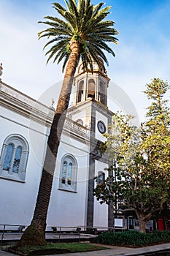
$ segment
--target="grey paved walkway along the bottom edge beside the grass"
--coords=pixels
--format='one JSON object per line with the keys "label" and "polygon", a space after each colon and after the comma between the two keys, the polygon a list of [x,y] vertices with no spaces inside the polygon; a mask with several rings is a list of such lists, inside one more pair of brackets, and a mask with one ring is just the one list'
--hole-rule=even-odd
{"label": "grey paved walkway along the bottom edge beside the grass", "polygon": [[[8,235],[9,236],[9,235]],[[11,237],[13,235],[11,234]],[[20,235],[15,235],[20,236]],[[50,235],[48,235],[50,236]],[[53,235],[55,237],[56,235]],[[99,244],[97,244],[99,245]],[[146,252],[158,252],[161,250],[169,249],[170,250],[170,243],[168,244],[158,244],[154,246],[147,246],[147,247],[140,247],[140,248],[128,248],[128,247],[121,247],[121,246],[106,246],[109,249],[106,250],[100,250],[100,251],[93,251],[93,252],[77,252],[77,253],[67,253],[67,254],[59,254],[57,256],[132,256],[132,255],[143,255]],[[3,250],[0,250],[0,256],[16,256],[9,252],[4,252]],[[48,255],[53,256],[53,255]],[[163,254],[162,254],[163,256]]]}

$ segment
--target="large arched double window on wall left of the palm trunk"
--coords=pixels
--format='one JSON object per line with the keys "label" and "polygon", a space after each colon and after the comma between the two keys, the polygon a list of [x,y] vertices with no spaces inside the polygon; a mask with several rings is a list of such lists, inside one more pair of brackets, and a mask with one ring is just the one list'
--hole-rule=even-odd
{"label": "large arched double window on wall left of the palm trunk", "polygon": [[23,136],[9,135],[1,150],[0,178],[25,181],[28,151],[28,142]]}

